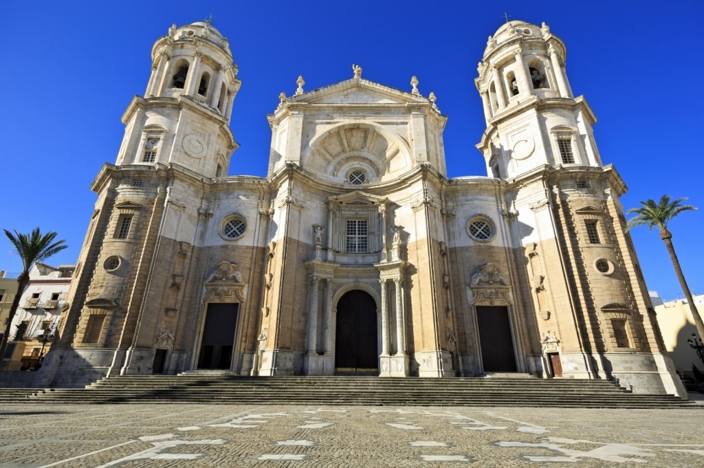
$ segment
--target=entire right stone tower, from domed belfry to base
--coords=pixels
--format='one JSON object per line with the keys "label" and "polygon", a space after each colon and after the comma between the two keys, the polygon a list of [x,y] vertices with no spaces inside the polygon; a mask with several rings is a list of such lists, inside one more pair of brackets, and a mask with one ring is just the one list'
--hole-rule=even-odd
{"label": "entire right stone tower, from domed belfry to base", "polygon": [[536,367],[565,377],[618,376],[653,392],[662,391],[655,377],[662,374],[674,392],[625,229],[619,197],[627,188],[601,163],[596,117],[572,94],[565,54],[545,23],[511,21],[489,37],[474,80],[486,118],[477,148],[487,173],[505,181],[504,218],[520,244],[528,293],[523,313],[534,314],[541,341]]}

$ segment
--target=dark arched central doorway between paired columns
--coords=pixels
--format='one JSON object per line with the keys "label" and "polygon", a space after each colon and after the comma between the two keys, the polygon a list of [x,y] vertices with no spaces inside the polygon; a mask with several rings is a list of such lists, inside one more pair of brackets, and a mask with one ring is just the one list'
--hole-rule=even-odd
{"label": "dark arched central doorway between paired columns", "polygon": [[337,302],[335,327],[335,372],[378,374],[377,304],[358,289]]}

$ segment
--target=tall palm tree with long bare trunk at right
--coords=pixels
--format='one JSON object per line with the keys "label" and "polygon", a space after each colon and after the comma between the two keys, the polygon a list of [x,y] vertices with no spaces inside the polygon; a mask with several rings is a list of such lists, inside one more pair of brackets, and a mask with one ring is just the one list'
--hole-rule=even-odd
{"label": "tall palm tree with long bare trunk at right", "polygon": [[659,202],[650,199],[648,201],[641,201],[641,208],[631,208],[627,211],[630,215],[635,213],[637,216],[632,217],[628,220],[628,229],[634,226],[648,226],[650,230],[653,227],[657,227],[660,231],[660,239],[665,242],[665,247],[667,248],[667,253],[670,254],[670,260],[672,260],[672,266],[674,267],[674,272],[677,274],[677,279],[679,279],[679,286],[684,292],[684,297],[689,303],[689,310],[692,314],[694,324],[697,327],[697,332],[700,337],[704,337],[704,322],[702,317],[699,315],[699,311],[694,305],[692,300],[692,293],[689,291],[687,282],[684,279],[684,273],[682,273],[682,268],[679,266],[679,260],[677,259],[677,253],[674,253],[674,246],[672,245],[672,232],[667,229],[667,223],[672,221],[672,218],[679,215],[683,211],[696,210],[697,208],[692,205],[681,205],[683,201],[687,198],[677,198],[677,200],[671,200],[669,195],[663,195]]}

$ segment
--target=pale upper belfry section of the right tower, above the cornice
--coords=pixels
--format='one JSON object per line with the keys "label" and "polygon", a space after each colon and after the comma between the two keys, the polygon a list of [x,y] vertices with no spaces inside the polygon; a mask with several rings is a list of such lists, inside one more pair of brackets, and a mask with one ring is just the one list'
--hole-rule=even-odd
{"label": "pale upper belfry section of the right tower, above the cornice", "polygon": [[489,176],[512,179],[542,165],[601,167],[596,117],[572,95],[566,53],[545,23],[510,21],[489,36],[474,80],[486,119],[477,148]]}

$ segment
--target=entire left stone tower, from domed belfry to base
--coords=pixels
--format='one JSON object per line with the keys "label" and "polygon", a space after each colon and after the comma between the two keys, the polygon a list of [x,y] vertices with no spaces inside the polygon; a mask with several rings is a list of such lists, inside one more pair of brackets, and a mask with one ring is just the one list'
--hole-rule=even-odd
{"label": "entire left stone tower, from domed belfry to base", "polygon": [[91,187],[98,201],[46,381],[144,372],[167,353],[179,359],[186,270],[211,214],[209,182],[227,175],[237,148],[229,123],[240,81],[227,39],[209,23],[173,25],[151,57],[146,93],[122,115],[117,160]]}

